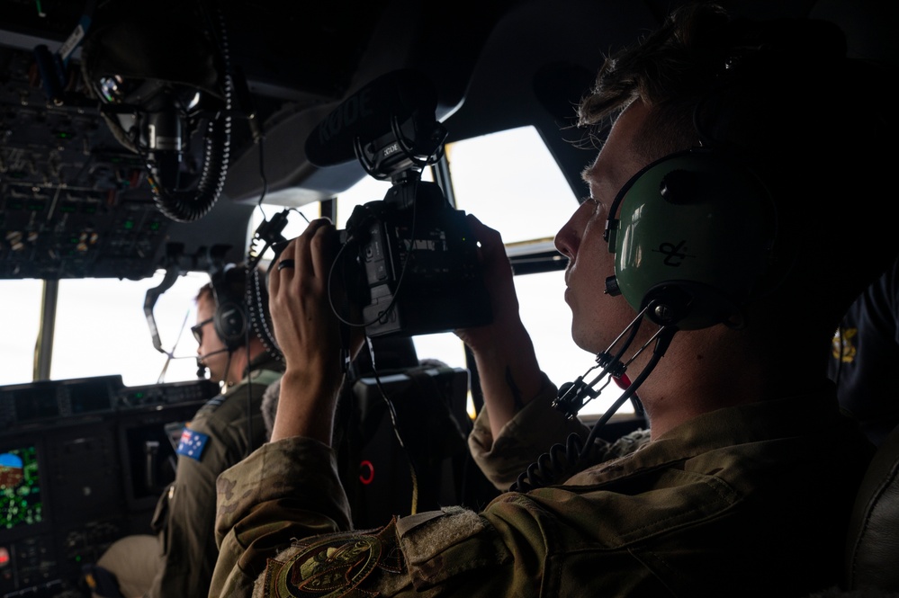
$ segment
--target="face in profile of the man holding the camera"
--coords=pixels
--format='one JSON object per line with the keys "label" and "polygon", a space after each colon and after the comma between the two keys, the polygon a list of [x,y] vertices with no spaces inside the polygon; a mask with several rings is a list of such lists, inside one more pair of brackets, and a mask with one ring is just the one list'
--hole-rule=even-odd
{"label": "face in profile of the man holding the camera", "polygon": [[584,173],[590,199],[555,237],[556,248],[569,258],[565,301],[571,307],[571,336],[590,353],[606,351],[636,316],[623,297],[605,294],[606,279],[615,274],[615,262],[603,232],[618,190],[648,164],[633,143],[646,113],[643,103],[635,102],[618,117],[596,161]]}

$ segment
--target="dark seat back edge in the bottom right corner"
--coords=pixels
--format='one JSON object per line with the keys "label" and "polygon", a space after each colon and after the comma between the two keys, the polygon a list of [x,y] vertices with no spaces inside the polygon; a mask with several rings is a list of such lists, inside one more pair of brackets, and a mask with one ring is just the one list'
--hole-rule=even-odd
{"label": "dark seat back edge in the bottom right corner", "polygon": [[850,516],[849,589],[899,592],[899,426],[886,437],[859,486]]}

